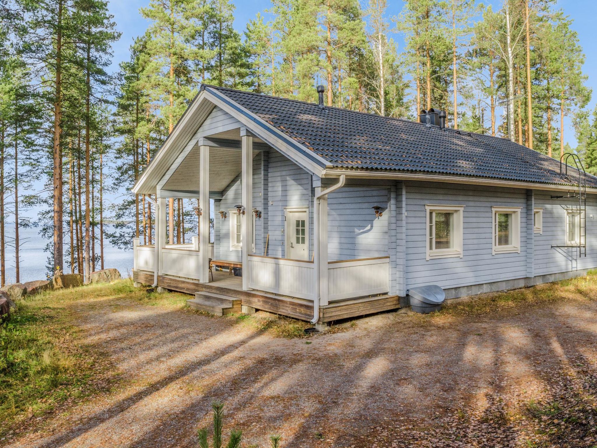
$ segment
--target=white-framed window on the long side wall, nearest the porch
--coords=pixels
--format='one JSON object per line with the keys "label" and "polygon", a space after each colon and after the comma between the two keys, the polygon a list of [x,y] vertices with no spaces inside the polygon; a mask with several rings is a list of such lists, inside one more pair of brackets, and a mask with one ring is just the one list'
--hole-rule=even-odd
{"label": "white-framed window on the long side wall, nearest the porch", "polygon": [[463,205],[425,205],[427,257],[462,256]]}

